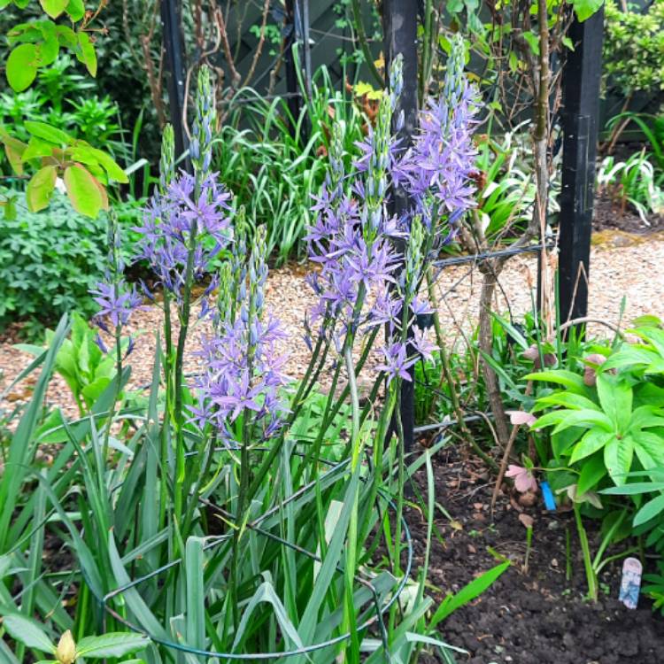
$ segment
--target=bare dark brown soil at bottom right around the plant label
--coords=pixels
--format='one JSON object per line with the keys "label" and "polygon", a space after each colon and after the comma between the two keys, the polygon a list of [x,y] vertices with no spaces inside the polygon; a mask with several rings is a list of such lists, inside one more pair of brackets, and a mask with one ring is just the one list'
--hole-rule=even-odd
{"label": "bare dark brown soil at bottom right around the plant label", "polygon": [[[597,604],[585,599],[583,560],[571,512],[547,513],[537,502],[525,509],[535,520],[529,570],[524,572],[526,529],[519,521],[516,497],[502,494],[490,516],[490,475],[475,459],[456,448],[435,459],[436,502],[450,513],[436,513],[444,544],[432,548],[429,581],[444,594],[458,591],[476,575],[497,564],[496,555],[512,561],[496,583],[472,605],[444,622],[442,637],[465,648],[456,654],[467,664],[658,664],[664,661],[664,618],[652,613],[642,597],[637,610],[618,602],[621,563],[609,565],[600,579]],[[416,482],[426,493],[426,477]],[[421,562],[426,521],[411,512],[416,559]],[[590,526],[589,529],[591,528]],[[571,538],[572,577],[566,580],[566,531]],[[591,549],[597,547],[591,536]],[[618,544],[609,555],[619,553]],[[490,550],[494,552],[493,554]],[[646,571],[648,562],[646,561]],[[424,659],[422,661],[425,661]],[[431,661],[431,660],[429,660]],[[442,661],[442,660],[441,660]]]}

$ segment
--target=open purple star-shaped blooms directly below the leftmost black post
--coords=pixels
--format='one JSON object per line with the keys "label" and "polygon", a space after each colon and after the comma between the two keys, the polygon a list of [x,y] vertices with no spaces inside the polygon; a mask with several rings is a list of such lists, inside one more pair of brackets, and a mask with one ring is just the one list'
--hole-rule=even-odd
{"label": "open purple star-shaped blooms directly below the leftmost black post", "polygon": [[217,174],[201,183],[196,196],[196,179],[181,172],[165,194],[151,198],[143,212],[143,224],[135,228],[143,237],[134,259],[147,260],[159,282],[178,301],[185,281],[192,223],[196,222],[197,227],[194,278],[198,280],[229,242],[229,200],[230,194],[217,181]]}

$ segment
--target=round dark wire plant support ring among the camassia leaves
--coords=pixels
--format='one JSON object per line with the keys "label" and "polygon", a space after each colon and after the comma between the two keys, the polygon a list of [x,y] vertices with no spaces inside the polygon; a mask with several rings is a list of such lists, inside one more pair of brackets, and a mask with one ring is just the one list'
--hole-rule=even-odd
{"label": "round dark wire plant support ring among the camassia leaves", "polygon": [[[222,451],[224,448],[220,448]],[[195,453],[195,452],[194,452]],[[188,455],[191,456],[191,453]],[[344,459],[344,461],[340,461],[336,464],[332,464],[331,462],[326,461],[325,462],[329,466],[329,470],[322,475],[320,478],[318,478],[316,481],[306,484],[304,487],[301,489],[297,490],[295,493],[291,494],[289,498],[286,498],[286,500],[282,501],[279,505],[272,507],[271,509],[267,510],[266,513],[260,515],[257,519],[254,521],[251,521],[251,524],[249,524],[248,527],[256,529],[257,524],[259,524],[261,521],[265,521],[268,516],[271,516],[275,512],[278,512],[279,510],[282,509],[283,506],[286,506],[290,501],[299,498],[302,496],[307,490],[311,489],[314,484],[320,483],[320,480],[326,479],[329,475],[335,475],[339,470],[344,469],[345,466],[348,465],[349,459]],[[365,478],[360,477],[360,480],[362,482],[366,482]],[[396,513],[397,512],[397,506],[394,504],[394,501],[391,500],[391,498],[388,498],[385,495],[385,492],[382,490],[379,490],[379,493],[381,494],[382,498],[387,500],[388,506]],[[368,629],[371,627],[374,623],[378,622],[381,633],[382,633],[382,642],[383,646],[386,646],[386,633],[385,633],[385,626],[384,622],[382,621],[382,615],[385,614],[391,606],[395,604],[395,602],[398,600],[399,596],[401,595],[401,592],[405,588],[405,584],[408,581],[408,578],[410,577],[412,568],[413,568],[413,539],[411,537],[410,529],[408,528],[408,523],[405,521],[405,517],[401,516],[401,524],[403,527],[403,533],[405,537],[405,544],[407,547],[407,561],[406,561],[406,567],[404,571],[403,578],[401,581],[398,583],[396,591],[392,594],[392,597],[390,600],[385,604],[385,606],[380,606],[380,599],[378,598],[378,594],[375,591],[374,586],[367,580],[361,579],[359,577],[355,577],[356,580],[369,587],[369,590],[371,591],[374,599],[374,606],[376,613],[373,617],[368,618],[367,621],[365,621],[363,624],[359,625],[357,628],[358,631],[363,631],[365,629]],[[292,544],[290,542],[287,542],[282,539],[282,537],[275,536],[273,533],[270,533],[268,531],[265,531],[263,529],[259,529],[261,534],[265,535],[266,537],[269,537],[271,539],[274,539],[275,541],[279,542],[280,544],[289,546],[292,548],[294,551],[302,553],[306,555],[307,557],[311,558],[312,560],[318,560],[320,561],[320,557],[317,556],[315,553],[312,552],[307,552],[304,548],[297,546],[297,544]],[[209,544],[206,544],[204,547],[204,550],[211,549],[212,547],[216,546],[217,544],[220,544],[221,542],[224,542],[228,540],[229,537],[231,537],[232,533],[229,533],[228,535],[221,535],[219,537],[215,537],[213,542],[210,542]],[[127,591],[129,589],[135,588],[140,583],[143,583],[144,581],[147,581],[148,579],[154,578],[155,576],[161,574],[162,572],[166,571],[167,569],[170,569],[171,567],[175,567],[181,563],[181,559],[178,560],[173,560],[169,563],[166,563],[166,565],[163,565],[162,567],[158,567],[158,569],[153,570],[150,574],[148,575],[143,575],[139,577],[138,579],[135,579],[131,583],[127,583],[124,586],[121,586],[120,588],[111,591],[104,595],[103,598],[97,598],[97,600],[100,602],[100,604],[104,607],[104,611],[106,611],[108,614],[112,615],[115,620],[120,622],[120,624],[124,625],[127,629],[131,629],[132,631],[142,634],[144,637],[148,637],[151,639],[153,643],[156,643],[158,645],[164,645],[167,648],[171,648],[173,650],[179,651],[179,652],[188,652],[189,654],[197,655],[200,657],[214,657],[214,658],[220,658],[220,659],[226,659],[226,660],[271,660],[271,659],[281,659],[281,658],[286,658],[286,657],[293,657],[296,655],[302,655],[306,654],[308,652],[315,652],[318,650],[322,650],[323,648],[328,648],[331,645],[336,645],[343,643],[344,641],[347,641],[349,638],[351,638],[351,632],[345,632],[344,634],[334,637],[331,639],[328,639],[327,641],[323,641],[319,644],[313,644],[313,645],[306,645],[301,648],[297,648],[295,650],[291,651],[284,651],[284,652],[258,652],[258,653],[247,653],[247,654],[241,654],[241,653],[234,653],[234,652],[214,652],[214,651],[205,651],[205,650],[200,650],[198,648],[192,648],[189,645],[182,645],[178,643],[174,643],[173,641],[169,641],[167,639],[159,638],[159,637],[153,637],[147,630],[143,629],[142,627],[139,627],[138,625],[135,625],[132,622],[127,621],[124,617],[122,617],[120,614],[118,614],[111,606],[108,606],[107,602],[109,599],[112,599],[114,597],[117,597],[118,595],[122,594],[124,591]],[[339,571],[339,568],[337,566],[337,571]],[[344,571],[341,569],[341,571]]]}

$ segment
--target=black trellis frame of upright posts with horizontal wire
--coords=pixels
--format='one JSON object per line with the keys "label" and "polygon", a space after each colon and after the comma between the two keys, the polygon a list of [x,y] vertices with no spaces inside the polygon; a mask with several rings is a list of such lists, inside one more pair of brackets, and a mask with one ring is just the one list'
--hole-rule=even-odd
{"label": "black trellis frame of upright posts with horizontal wire", "polygon": [[[327,1],[327,0],[326,0]],[[161,5],[164,27],[166,67],[169,76],[169,102],[174,126],[175,146],[181,156],[187,145],[183,127],[185,57],[181,36],[179,0],[165,0]],[[417,17],[419,0],[383,0],[384,52],[387,64],[398,54],[404,61],[404,89],[398,111],[405,116],[400,137],[410,143],[417,119]],[[285,0],[284,39],[287,102],[297,119],[301,93],[297,89],[297,68],[304,69],[307,90],[311,86],[309,56],[309,0]],[[299,29],[297,23],[300,23]],[[559,274],[560,312],[565,318],[579,318],[587,313],[590,268],[591,223],[595,186],[595,159],[598,140],[599,81],[601,74],[604,12],[596,12],[580,23],[575,20],[568,36],[575,49],[567,55],[563,69],[563,166],[560,195]],[[301,42],[304,52],[294,55],[293,44]],[[395,191],[396,212],[407,209],[409,201]],[[542,251],[542,244],[521,251]],[[481,262],[505,255],[506,251],[436,261],[439,268],[454,262]],[[400,413],[405,447],[410,449],[417,432],[414,429],[414,381],[404,382]]]}

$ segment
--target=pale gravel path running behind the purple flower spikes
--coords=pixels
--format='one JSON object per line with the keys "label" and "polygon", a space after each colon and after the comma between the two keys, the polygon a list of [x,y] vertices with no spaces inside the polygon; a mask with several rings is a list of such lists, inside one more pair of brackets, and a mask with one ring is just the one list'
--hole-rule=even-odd
{"label": "pale gravel path running behind the purple flower spikes", "polygon": [[[640,236],[605,231],[594,235],[593,243],[589,315],[617,324],[620,322],[622,297],[625,297],[623,327],[645,313],[664,318],[664,270],[661,267],[664,265],[664,235]],[[287,371],[293,377],[303,374],[308,361],[301,322],[306,309],[313,304],[313,295],[304,281],[306,270],[306,266],[299,265],[273,270],[266,290],[268,307],[282,319],[290,333],[284,350],[290,353]],[[481,281],[481,274],[476,269],[454,266],[447,268],[437,282],[441,320],[452,342],[463,340],[463,335],[475,326]],[[499,282],[495,309],[505,313],[509,300],[512,315],[518,320],[531,307],[529,283],[537,282],[537,260],[524,258],[523,255],[514,257],[507,263]],[[159,321],[160,312],[156,308],[140,313],[132,320],[131,331],[137,334],[135,351],[129,358],[134,386],[151,381],[151,362]],[[196,350],[195,340],[200,333],[205,333],[205,328],[196,324],[189,337],[192,351]],[[606,335],[606,328],[591,328],[591,333]],[[11,343],[0,344],[0,390],[19,374],[28,360],[29,356],[16,351]],[[192,371],[196,367],[196,358],[189,354],[187,370]],[[29,392],[30,385],[20,383],[12,390],[8,400],[13,402],[29,398]],[[69,390],[59,377],[51,383],[48,398],[52,404],[62,405],[66,412],[75,412]]]}

